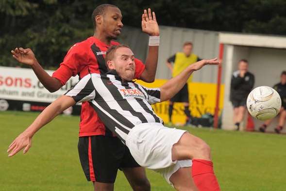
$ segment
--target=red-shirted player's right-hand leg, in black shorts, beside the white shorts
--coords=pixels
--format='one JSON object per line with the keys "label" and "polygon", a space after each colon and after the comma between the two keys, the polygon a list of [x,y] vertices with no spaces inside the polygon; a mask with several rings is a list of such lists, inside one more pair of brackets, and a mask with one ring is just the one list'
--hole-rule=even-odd
{"label": "red-shirted player's right-hand leg, in black shorts, beside the white shorts", "polygon": [[[121,142],[121,144],[123,143]],[[126,145],[124,145],[124,149],[125,151],[121,158],[119,169],[123,171],[134,191],[150,191],[151,186],[145,169],[135,161]]]}

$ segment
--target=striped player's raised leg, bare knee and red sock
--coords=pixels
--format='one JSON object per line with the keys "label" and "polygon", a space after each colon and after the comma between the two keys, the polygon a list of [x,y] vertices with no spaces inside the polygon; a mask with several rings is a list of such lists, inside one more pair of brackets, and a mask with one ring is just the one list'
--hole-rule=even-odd
{"label": "striped player's raised leg, bare knee and red sock", "polygon": [[192,159],[192,177],[200,191],[219,191],[210,147],[200,138],[185,132],[172,147],[172,160]]}

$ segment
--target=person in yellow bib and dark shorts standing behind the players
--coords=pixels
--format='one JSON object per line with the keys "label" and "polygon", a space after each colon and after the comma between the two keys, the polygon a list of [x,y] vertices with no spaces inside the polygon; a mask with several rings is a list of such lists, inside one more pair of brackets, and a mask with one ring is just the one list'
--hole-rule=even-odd
{"label": "person in yellow bib and dark shorts standing behind the players", "polygon": [[[172,78],[178,76],[185,68],[195,62],[201,61],[196,54],[192,53],[193,43],[185,42],[183,45],[183,52],[177,52],[170,58],[168,58],[166,64],[172,72]],[[172,65],[172,63],[174,65]],[[192,76],[189,77],[185,86],[169,100],[169,122],[172,122],[172,113],[174,102],[183,102],[184,103],[184,112],[186,115],[185,125],[189,125],[191,122],[191,111],[189,110],[189,92],[188,92],[188,83],[191,82]]]}

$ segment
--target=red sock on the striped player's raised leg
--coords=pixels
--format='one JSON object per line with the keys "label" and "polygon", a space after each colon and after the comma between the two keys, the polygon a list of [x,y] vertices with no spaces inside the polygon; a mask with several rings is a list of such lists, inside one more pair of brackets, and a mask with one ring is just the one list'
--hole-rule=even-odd
{"label": "red sock on the striped player's raised leg", "polygon": [[199,191],[220,191],[213,162],[203,159],[192,159],[192,177]]}

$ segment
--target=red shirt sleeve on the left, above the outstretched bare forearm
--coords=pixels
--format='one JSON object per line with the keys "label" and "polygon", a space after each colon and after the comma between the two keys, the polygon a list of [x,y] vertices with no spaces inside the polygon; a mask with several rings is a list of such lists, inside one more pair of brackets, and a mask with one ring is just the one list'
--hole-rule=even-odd
{"label": "red shirt sleeve on the left, above the outstretched bare forearm", "polygon": [[86,55],[84,54],[81,45],[73,45],[68,50],[60,67],[52,74],[52,77],[58,79],[62,85],[65,85],[67,80],[69,80],[71,76],[76,76],[83,64],[87,63],[85,62]]}

